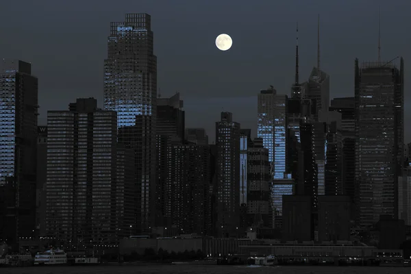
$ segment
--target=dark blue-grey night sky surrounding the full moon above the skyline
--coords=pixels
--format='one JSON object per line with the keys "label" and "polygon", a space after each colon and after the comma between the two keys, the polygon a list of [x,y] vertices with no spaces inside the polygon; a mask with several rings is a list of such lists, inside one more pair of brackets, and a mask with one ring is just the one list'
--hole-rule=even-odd
{"label": "dark blue-grey night sky surrounding the full moon above the skyline", "polygon": [[[411,64],[410,0],[381,1],[382,60]],[[222,110],[233,112],[256,136],[257,94],[273,85],[290,94],[299,23],[301,82],[316,65],[321,16],[321,69],[330,75],[330,98],[353,96],[354,59],[377,60],[377,0],[19,0],[1,1],[0,56],[32,62],[39,79],[40,125],[47,110],[66,110],[77,97],[103,105],[103,60],[110,22],[125,13],[148,13],[158,56],[162,97],[180,92],[186,127],[205,127],[214,140]],[[233,38],[219,51],[216,36]],[[398,61],[398,60],[397,60]],[[397,62],[399,64],[399,62]],[[411,141],[405,77],[405,132]]]}

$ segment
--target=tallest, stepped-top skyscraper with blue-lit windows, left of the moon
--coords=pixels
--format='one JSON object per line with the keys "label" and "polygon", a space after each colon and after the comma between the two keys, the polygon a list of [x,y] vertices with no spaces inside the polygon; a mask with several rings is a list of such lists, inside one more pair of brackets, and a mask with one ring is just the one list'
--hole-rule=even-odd
{"label": "tallest, stepped-top skyscraper with blue-lit windows, left of the moon", "polygon": [[136,152],[137,225],[155,217],[157,58],[149,14],[125,14],[110,24],[104,60],[104,109],[117,112],[119,142]]}

